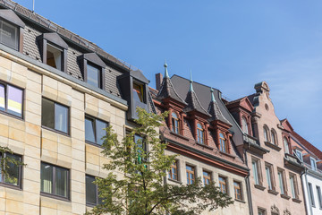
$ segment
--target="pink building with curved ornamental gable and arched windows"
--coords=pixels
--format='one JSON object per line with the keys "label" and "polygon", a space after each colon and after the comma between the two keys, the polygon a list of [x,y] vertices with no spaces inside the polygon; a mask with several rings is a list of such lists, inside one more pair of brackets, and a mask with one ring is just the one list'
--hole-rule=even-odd
{"label": "pink building with curved ornamental gable and arched windows", "polygon": [[292,153],[292,134],[275,116],[267,82],[259,82],[255,90],[225,103],[244,135],[244,141],[236,144],[250,168],[253,214],[306,214],[304,167]]}

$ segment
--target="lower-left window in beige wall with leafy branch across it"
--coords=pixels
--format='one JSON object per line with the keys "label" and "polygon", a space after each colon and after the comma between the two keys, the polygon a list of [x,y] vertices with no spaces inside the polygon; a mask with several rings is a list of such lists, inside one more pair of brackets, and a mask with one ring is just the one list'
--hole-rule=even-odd
{"label": "lower-left window in beige wall with leafy branch across it", "polygon": [[[15,159],[18,161],[21,161],[20,155],[10,154],[10,153],[4,153],[0,155],[4,158],[10,158]],[[6,167],[5,167],[6,166]],[[9,162],[8,164],[5,164],[5,170],[7,172],[7,176],[3,174],[3,172],[0,172],[0,183],[6,184],[6,185],[14,185],[14,186],[21,186],[21,166],[18,166],[16,164],[13,164],[12,162]],[[4,168],[2,167],[2,168]]]}

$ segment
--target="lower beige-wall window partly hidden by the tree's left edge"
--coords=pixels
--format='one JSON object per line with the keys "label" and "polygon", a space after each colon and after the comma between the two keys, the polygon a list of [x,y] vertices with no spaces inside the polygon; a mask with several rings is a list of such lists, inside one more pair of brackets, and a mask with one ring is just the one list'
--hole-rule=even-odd
{"label": "lower beige-wall window partly hidden by the tree's left edge", "polygon": [[86,204],[89,206],[102,203],[102,200],[98,197],[98,187],[94,182],[95,176],[86,175]]}

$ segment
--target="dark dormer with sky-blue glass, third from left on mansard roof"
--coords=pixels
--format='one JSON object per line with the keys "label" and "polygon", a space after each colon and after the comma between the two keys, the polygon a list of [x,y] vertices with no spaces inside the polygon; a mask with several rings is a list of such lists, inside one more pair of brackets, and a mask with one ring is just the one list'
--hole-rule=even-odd
{"label": "dark dormer with sky-blue glass, third from left on mansard roof", "polygon": [[87,53],[78,57],[83,72],[84,82],[90,86],[105,89],[106,64],[95,53]]}

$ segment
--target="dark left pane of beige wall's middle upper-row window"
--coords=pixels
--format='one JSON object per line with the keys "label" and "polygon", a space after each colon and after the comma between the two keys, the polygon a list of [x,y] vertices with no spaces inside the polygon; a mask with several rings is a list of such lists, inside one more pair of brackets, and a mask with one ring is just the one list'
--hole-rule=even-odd
{"label": "dark left pane of beige wall's middle upper-row window", "polygon": [[55,128],[54,114],[55,114],[54,102],[43,98],[42,105],[41,105],[41,125],[54,129]]}

